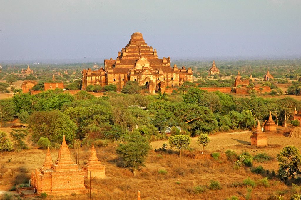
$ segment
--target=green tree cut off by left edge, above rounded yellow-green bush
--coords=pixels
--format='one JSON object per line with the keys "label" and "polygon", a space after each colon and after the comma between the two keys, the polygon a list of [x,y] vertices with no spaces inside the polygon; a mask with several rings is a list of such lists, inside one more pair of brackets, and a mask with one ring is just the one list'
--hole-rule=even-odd
{"label": "green tree cut off by left edge, above rounded yellow-green bush", "polygon": [[7,122],[14,119],[15,106],[10,100],[0,100],[0,128],[2,128],[2,122]]}

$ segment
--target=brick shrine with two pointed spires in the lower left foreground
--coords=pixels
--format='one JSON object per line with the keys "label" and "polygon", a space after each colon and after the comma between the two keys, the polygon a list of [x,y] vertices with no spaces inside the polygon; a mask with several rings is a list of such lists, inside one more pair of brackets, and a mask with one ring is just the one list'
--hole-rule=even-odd
{"label": "brick shrine with two pointed spires in the lower left foreground", "polygon": [[48,148],[42,168],[32,172],[31,181],[37,194],[42,192],[51,195],[82,194],[88,192],[84,184],[84,174],[71,159],[64,135],[55,164],[52,163]]}

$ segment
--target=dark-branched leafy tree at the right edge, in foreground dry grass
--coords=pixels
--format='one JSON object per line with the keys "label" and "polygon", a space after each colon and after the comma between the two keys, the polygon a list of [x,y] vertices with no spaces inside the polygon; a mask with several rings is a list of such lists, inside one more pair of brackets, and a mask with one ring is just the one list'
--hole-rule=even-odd
{"label": "dark-branched leafy tree at the right edge, in foreground dry grass", "polygon": [[292,178],[300,174],[301,155],[295,146],[285,146],[280,154],[277,154],[279,162],[279,175],[281,180],[287,184],[291,183]]}

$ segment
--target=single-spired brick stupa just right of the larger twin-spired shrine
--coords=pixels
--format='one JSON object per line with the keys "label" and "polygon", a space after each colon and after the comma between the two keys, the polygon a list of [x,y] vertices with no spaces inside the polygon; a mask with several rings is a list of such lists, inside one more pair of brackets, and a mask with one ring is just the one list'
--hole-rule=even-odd
{"label": "single-spired brick stupa just right of the larger twin-spired shrine", "polygon": [[106,167],[98,160],[96,151],[94,149],[94,144],[92,144],[89,160],[85,165],[82,165],[82,170],[85,172],[85,178],[90,178],[90,171],[92,178],[105,178],[105,168]]}

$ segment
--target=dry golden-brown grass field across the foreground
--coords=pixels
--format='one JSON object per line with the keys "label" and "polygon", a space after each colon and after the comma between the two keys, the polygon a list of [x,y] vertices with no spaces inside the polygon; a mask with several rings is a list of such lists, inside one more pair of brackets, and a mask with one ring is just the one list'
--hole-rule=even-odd
{"label": "dry golden-brown grass field across the foreground", "polygon": [[[10,128],[1,130],[9,132]],[[92,187],[98,189],[98,194],[93,199],[125,200],[136,199],[137,191],[141,191],[142,200],[189,200],[189,199],[226,199],[235,195],[240,199],[247,198],[247,187],[242,185],[247,177],[253,179],[257,186],[252,188],[249,199],[265,199],[271,195],[283,195],[289,199],[292,187],[281,183],[271,176],[271,171],[278,170],[278,162],[275,157],[286,145],[301,147],[300,139],[288,138],[290,128],[279,128],[276,133],[267,133],[268,147],[256,148],[250,146],[250,131],[218,133],[210,135],[211,142],[205,151],[196,144],[193,138],[192,151],[185,150],[182,158],[178,157],[175,149],[167,151],[152,150],[147,158],[145,167],[137,171],[133,177],[127,168],[118,167],[118,157],[115,152],[116,143],[104,148],[97,148],[99,160],[106,166],[106,179],[92,180]],[[30,138],[27,139],[30,142]],[[158,149],[167,141],[155,141],[151,143],[153,149]],[[229,161],[225,151],[231,149],[238,155],[247,151],[252,155],[266,152],[273,159],[259,163],[254,161],[253,166],[262,165],[269,174],[255,174],[251,168],[236,168],[234,161]],[[70,149],[73,160],[77,150]],[[78,150],[79,163],[82,165],[89,156],[90,147],[83,146]],[[203,153],[202,153],[203,152]],[[213,159],[212,152],[219,152],[218,160]],[[44,162],[46,150],[30,146],[30,149],[21,152],[4,152],[0,154],[0,166],[5,169],[5,174],[0,180],[0,191],[8,191],[14,184],[22,183],[30,177],[30,172],[40,168]],[[51,149],[52,160],[55,161],[58,149]],[[261,184],[261,179],[269,177],[267,187]],[[221,183],[221,190],[209,190],[210,180]],[[197,192],[204,189],[204,192]],[[64,197],[50,197],[50,199],[86,199],[87,195],[75,195]]]}

